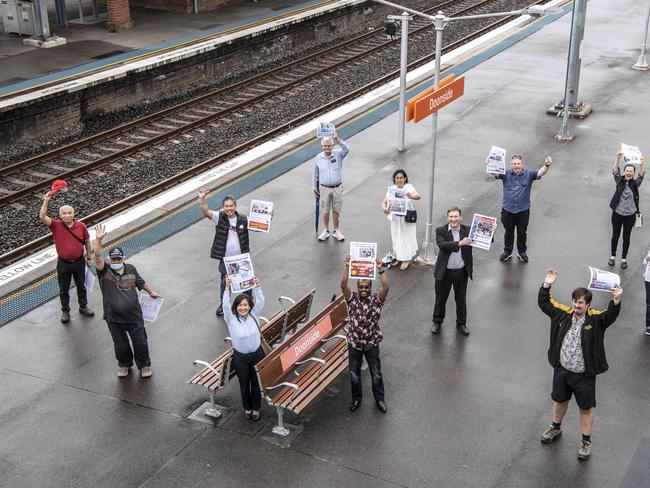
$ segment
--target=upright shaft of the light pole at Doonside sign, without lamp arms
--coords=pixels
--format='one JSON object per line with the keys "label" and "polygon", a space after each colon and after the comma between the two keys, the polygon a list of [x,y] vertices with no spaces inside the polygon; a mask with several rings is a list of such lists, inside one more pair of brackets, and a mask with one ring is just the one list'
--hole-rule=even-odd
{"label": "upright shaft of the light pole at Doonside sign, without lamp arms", "polygon": [[[439,11],[435,16],[433,25],[436,29],[436,69],[434,72],[433,83],[438,88],[440,82],[440,58],[442,57],[442,32],[447,25],[447,18]],[[431,117],[431,167],[427,169],[427,181],[429,183],[429,206],[427,208],[427,226],[422,251],[420,252],[419,261],[424,264],[433,264],[436,261],[433,241],[433,182],[436,172],[436,136],[438,133],[438,112],[434,112]]]}

